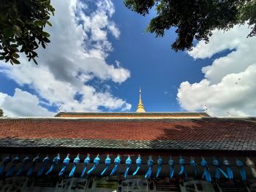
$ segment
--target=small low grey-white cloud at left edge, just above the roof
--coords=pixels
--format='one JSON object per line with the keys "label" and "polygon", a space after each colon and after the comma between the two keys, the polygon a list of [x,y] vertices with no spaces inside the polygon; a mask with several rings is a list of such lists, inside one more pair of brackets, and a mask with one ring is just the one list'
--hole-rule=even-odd
{"label": "small low grey-white cloud at left edge, just above the roof", "polygon": [[4,110],[4,116],[53,116],[53,112],[48,112],[45,108],[39,105],[37,96],[32,95],[27,91],[21,91],[15,88],[13,96],[7,94],[1,98],[1,108]]}

